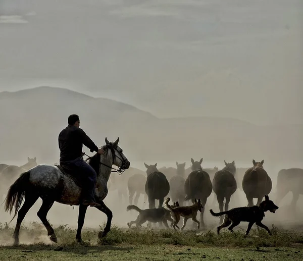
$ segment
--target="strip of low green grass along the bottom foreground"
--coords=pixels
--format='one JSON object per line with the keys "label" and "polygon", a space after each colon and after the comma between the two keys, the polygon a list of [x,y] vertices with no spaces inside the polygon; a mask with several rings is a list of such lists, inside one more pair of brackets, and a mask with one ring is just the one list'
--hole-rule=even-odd
{"label": "strip of low green grass along the bottom foreground", "polygon": [[112,226],[102,240],[97,239],[99,231],[83,230],[86,243],[79,245],[75,242],[76,230],[67,225],[55,229],[59,243],[54,244],[43,226],[31,223],[21,228],[18,247],[11,246],[13,230],[0,224],[0,260],[303,260],[303,233],[274,225],[273,236],[255,229],[246,238],[241,230],[218,236],[211,230],[175,232]]}

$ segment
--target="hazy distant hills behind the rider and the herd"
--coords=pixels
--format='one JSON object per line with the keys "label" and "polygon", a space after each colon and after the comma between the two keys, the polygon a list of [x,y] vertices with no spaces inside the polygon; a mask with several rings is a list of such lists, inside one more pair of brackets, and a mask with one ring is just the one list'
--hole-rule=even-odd
{"label": "hazy distant hills behind the rider and the herd", "polygon": [[302,125],[257,126],[212,117],[159,119],[122,102],[42,86],[0,93],[0,162],[27,156],[58,161],[58,134],[72,113],[80,116],[81,127],[98,145],[106,136],[119,136],[135,160],[301,161],[303,152]]}

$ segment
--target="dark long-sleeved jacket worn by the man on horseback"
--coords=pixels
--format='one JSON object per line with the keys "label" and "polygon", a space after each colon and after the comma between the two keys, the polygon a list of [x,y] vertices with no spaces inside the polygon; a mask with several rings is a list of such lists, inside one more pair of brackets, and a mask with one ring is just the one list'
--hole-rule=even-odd
{"label": "dark long-sleeved jacket worn by the man on horseback", "polygon": [[76,126],[68,125],[59,134],[60,162],[73,161],[82,156],[83,144],[91,152],[98,151],[98,147],[86,135],[86,133]]}

